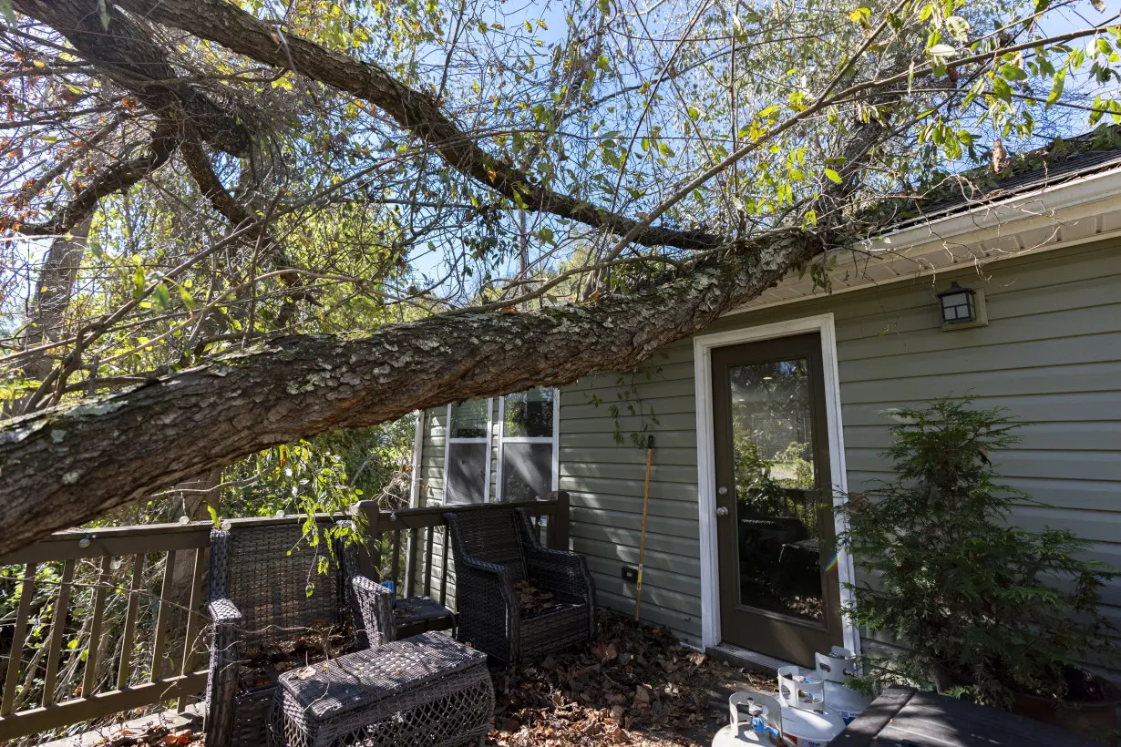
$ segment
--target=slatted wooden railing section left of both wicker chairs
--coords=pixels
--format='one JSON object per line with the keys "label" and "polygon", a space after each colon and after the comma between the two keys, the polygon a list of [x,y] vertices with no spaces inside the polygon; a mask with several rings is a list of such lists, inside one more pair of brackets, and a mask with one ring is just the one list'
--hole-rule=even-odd
{"label": "slatted wooden railing section left of both wicker chairs", "polygon": [[0,743],[205,689],[198,610],[210,529],[74,530],[0,558],[21,568],[4,578],[19,601],[0,628]]}

